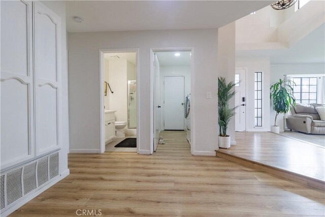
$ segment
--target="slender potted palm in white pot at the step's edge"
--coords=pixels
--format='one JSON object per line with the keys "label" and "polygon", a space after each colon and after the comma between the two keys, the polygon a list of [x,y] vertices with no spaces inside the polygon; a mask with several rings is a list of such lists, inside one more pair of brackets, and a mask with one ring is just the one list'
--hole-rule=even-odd
{"label": "slender potted palm in white pot at the step's edge", "polygon": [[229,148],[231,138],[227,135],[228,123],[235,115],[236,107],[230,107],[229,101],[236,94],[234,90],[236,83],[226,83],[225,78],[218,77],[218,145],[220,148]]}

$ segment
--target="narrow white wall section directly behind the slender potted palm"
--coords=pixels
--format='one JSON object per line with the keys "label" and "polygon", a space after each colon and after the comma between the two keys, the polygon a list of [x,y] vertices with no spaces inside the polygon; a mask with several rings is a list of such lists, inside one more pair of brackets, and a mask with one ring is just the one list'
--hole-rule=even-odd
{"label": "narrow white wall section directly behind the slender potted palm", "polygon": [[[235,33],[235,22],[218,29],[217,75],[224,77],[227,82],[235,81]],[[235,97],[230,100],[230,106],[235,106]],[[235,116],[229,122],[227,134],[231,136],[231,144],[236,144]]]}

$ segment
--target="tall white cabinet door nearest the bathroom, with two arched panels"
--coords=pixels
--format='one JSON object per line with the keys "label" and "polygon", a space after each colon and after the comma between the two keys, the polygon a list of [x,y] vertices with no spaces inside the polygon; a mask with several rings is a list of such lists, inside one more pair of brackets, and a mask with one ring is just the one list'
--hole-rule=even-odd
{"label": "tall white cabinet door nearest the bathroom, with two arched panels", "polygon": [[35,109],[37,156],[60,147],[61,19],[34,2]]}

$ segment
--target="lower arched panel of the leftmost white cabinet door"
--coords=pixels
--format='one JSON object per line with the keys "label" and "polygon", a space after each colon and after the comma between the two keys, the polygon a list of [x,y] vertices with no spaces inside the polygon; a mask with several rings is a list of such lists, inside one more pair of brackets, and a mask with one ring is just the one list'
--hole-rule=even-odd
{"label": "lower arched panel of the leftmost white cabinet door", "polygon": [[21,80],[1,81],[1,164],[30,157],[29,84]]}

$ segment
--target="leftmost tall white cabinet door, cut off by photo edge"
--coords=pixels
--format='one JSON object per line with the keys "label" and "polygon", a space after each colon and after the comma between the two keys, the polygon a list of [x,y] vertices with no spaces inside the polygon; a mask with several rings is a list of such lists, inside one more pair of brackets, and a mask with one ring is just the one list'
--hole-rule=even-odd
{"label": "leftmost tall white cabinet door, cut off by photo edge", "polygon": [[1,1],[1,168],[34,158],[32,4]]}

